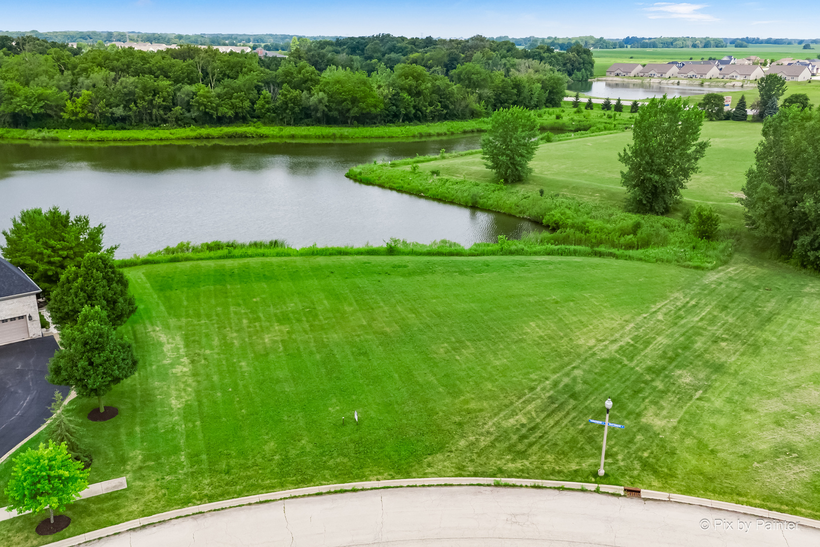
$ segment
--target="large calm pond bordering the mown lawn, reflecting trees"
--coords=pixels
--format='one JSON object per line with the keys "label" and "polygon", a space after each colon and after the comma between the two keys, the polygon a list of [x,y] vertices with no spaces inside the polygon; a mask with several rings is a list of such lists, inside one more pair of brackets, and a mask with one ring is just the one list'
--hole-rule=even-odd
{"label": "large calm pond bordering the mown lawn, reflecting trees", "polygon": [[469,246],[540,225],[344,177],[348,167],[478,148],[480,135],[410,143],[90,145],[0,142],[0,229],[21,209],[68,208],[107,226],[117,257],[180,241],[285,239],[295,247],[397,237]]}

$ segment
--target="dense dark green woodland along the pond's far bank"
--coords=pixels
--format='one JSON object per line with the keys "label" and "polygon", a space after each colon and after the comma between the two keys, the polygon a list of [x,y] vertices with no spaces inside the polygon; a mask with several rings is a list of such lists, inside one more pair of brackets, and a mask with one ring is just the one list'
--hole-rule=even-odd
{"label": "dense dark green woodland along the pond's far bank", "polygon": [[575,44],[517,48],[482,36],[389,34],[293,39],[289,57],[186,45],[160,52],[0,36],[0,125],[125,129],[157,125],[379,124],[464,120],[560,106],[594,59]]}

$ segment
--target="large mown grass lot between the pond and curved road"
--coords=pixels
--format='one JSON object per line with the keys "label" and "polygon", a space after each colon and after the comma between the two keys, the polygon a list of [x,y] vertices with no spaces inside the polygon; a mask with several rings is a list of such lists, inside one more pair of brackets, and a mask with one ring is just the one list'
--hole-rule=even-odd
{"label": "large mown grass lot between the pond and curved road", "polygon": [[[741,258],[711,272],[315,257],[125,273],[139,372],[106,397],[118,417],[84,424],[90,480],[129,487],[75,503],[52,540],[294,486],[594,481],[602,431],[586,421],[608,396],[626,429],[610,431],[604,482],[820,516],[816,277]],[[43,543],[39,518],[0,522],[0,543]]]}

